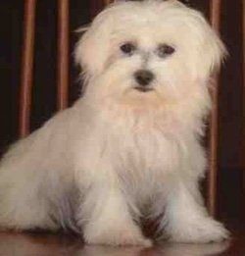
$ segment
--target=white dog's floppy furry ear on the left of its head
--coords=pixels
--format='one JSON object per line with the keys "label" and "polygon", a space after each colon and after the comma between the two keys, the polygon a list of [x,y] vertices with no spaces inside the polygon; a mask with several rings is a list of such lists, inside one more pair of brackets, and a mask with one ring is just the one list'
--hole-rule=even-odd
{"label": "white dog's floppy furry ear on the left of its head", "polygon": [[90,76],[99,74],[106,63],[110,50],[112,22],[104,11],[82,34],[74,50],[75,63]]}

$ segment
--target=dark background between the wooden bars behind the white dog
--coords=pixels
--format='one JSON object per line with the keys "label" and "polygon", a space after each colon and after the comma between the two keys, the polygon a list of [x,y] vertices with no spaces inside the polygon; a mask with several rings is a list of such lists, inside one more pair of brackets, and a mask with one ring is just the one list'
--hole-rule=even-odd
{"label": "dark background between the wooden bars behind the white dog", "polygon": [[[0,153],[18,138],[18,107],[24,2],[0,1]],[[31,130],[39,128],[56,112],[55,0],[37,1],[34,86]],[[71,0],[71,83],[70,104],[77,97],[77,69],[73,65],[74,30],[88,24],[101,9],[101,1]],[[188,5],[209,17],[209,1],[189,0]],[[221,38],[229,57],[221,71],[219,206],[220,216],[237,219],[242,213],[242,81],[241,81],[241,0],[223,0]],[[205,49],[204,49],[205,54]]]}

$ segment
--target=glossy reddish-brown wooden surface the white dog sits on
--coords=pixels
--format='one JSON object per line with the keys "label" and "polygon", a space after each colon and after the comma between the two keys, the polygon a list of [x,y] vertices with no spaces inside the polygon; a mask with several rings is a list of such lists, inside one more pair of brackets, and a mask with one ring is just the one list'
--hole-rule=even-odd
{"label": "glossy reddish-brown wooden surface the white dog sits on", "polygon": [[[242,229],[241,229],[242,227]],[[0,233],[0,256],[245,256],[245,229],[230,228],[229,242],[163,243],[153,248],[87,246],[73,234]]]}

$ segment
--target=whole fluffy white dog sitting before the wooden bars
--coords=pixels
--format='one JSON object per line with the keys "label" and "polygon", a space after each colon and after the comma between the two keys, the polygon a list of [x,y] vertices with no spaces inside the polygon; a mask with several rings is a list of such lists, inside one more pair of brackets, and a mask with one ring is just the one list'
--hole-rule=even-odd
{"label": "whole fluffy white dog sitting before the wooden bars", "polygon": [[69,228],[87,243],[147,246],[144,216],[173,241],[226,238],[198,189],[210,77],[224,54],[203,16],[177,1],[100,13],[75,49],[84,96],[1,162],[2,229]]}

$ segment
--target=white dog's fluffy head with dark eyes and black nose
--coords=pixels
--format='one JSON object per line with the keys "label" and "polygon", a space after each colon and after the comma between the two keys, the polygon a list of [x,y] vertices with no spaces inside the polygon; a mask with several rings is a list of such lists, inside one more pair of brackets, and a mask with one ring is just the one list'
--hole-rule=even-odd
{"label": "white dog's fluffy head with dark eyes and black nose", "polygon": [[94,20],[75,58],[88,93],[133,105],[163,105],[199,93],[225,49],[200,13],[177,1],[120,2]]}

